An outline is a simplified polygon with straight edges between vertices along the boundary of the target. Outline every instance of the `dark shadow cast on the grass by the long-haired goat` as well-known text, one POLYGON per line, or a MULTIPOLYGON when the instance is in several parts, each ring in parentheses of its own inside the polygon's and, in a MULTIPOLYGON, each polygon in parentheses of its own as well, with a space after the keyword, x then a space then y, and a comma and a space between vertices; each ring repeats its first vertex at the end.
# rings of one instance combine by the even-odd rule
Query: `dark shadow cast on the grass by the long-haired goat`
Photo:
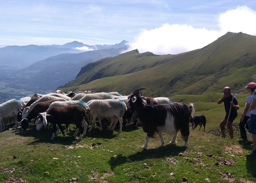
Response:
POLYGON ((127 163, 128 161, 142 161, 151 158, 178 156, 178 154, 184 152, 186 148, 187 147, 168 144, 154 149, 143 149, 142 151, 127 157, 122 154, 117 155, 117 157, 111 157, 109 164, 113 170, 116 166, 127 163))

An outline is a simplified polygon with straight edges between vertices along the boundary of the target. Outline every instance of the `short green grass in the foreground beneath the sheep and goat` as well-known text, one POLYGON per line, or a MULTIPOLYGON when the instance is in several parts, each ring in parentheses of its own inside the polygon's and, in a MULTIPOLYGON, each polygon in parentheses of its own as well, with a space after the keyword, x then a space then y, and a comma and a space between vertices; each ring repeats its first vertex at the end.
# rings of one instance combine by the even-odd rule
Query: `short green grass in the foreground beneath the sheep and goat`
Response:
MULTIPOLYGON (((207 121, 206 127, 209 127, 214 123, 213 116, 205 115, 212 118, 207 121)), ((149 140, 148 149, 142 150, 146 134, 141 127, 125 126, 120 134, 117 129, 107 131, 106 124, 103 127, 103 132, 99 132, 99 127, 87 132, 81 142, 73 139, 74 126, 65 139, 59 135, 53 141, 50 140, 52 130, 37 132, 35 125, 30 125, 27 131, 18 128, 1 133, 0 182, 11 175, 38 183, 68 182, 71 178, 78 178, 77 182, 181 182, 183 177, 189 182, 204 182, 205 178, 211 182, 228 182, 223 177, 226 172, 234 175, 236 182, 256 181, 255 157, 247 156, 251 151, 249 144, 241 145, 237 133, 235 139, 230 140, 203 133, 202 129, 191 131, 188 148, 183 147, 180 135, 176 145, 168 145, 171 137, 163 135, 165 145, 159 147, 157 136, 149 140), (84 147, 75 148, 77 145, 84 147), (227 150, 226 146, 236 147, 241 153, 227 150), (183 155, 179 156, 180 153, 183 155), (207 157, 209 154, 214 157, 207 157), (14 159, 14 155, 18 158, 14 159), (235 160, 235 164, 216 165, 221 157, 235 160), (6 168, 14 168, 14 172, 3 173, 6 168)))

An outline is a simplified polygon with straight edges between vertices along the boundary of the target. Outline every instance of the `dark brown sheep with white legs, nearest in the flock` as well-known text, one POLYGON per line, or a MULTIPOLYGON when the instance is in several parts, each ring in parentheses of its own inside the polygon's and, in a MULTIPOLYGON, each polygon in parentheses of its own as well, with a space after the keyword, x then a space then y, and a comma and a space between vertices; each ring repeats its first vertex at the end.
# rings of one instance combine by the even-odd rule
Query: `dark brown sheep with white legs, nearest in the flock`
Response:
MULTIPOLYGON (((63 134, 63 138, 65 138, 65 133, 61 127, 61 124, 68 125, 71 123, 75 123, 76 127, 80 130, 79 141, 81 141, 82 137, 86 133, 86 128, 88 126, 86 121, 84 120, 84 117, 86 115, 86 110, 83 107, 79 105, 70 105, 64 107, 52 107, 50 109, 47 109, 47 111, 39 113, 37 119, 40 118, 45 126, 49 122, 53 125, 53 136, 51 140, 55 138, 56 125, 59 126, 63 134), (84 128, 82 126, 83 123, 85 124, 84 128)), ((76 136, 76 134, 74 136, 76 136)))

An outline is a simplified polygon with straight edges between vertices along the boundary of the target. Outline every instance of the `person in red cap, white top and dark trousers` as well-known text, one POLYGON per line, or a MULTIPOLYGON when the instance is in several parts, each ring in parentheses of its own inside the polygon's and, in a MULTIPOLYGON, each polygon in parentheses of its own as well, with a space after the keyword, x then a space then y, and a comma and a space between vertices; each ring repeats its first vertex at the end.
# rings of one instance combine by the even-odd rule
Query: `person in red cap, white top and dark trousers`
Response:
POLYGON ((250 104, 252 103, 252 93, 254 92, 255 88, 256 88, 256 83, 248 83, 247 86, 245 87, 247 92, 250 93, 250 95, 246 98, 246 103, 245 103, 245 109, 242 113, 242 116, 240 118, 240 123, 239 123, 239 128, 240 128, 240 134, 241 134, 241 138, 244 140, 245 143, 248 142, 247 140, 247 136, 246 136, 246 131, 245 128, 248 129, 248 125, 247 125, 247 121, 250 118, 251 113, 249 112, 249 107, 250 104))

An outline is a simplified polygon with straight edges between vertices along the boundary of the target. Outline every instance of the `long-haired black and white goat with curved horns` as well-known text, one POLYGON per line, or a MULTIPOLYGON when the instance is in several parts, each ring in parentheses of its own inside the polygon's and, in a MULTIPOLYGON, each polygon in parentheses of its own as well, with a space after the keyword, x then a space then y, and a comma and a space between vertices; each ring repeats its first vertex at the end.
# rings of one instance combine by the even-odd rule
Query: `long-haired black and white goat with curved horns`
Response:
MULTIPOLYGON (((137 89, 138 91, 139 89, 137 89)), ((166 135, 173 135, 169 142, 176 142, 178 131, 181 131, 181 137, 185 141, 184 146, 188 146, 189 122, 190 116, 194 112, 194 105, 188 107, 184 103, 169 103, 147 105, 141 98, 142 92, 136 93, 136 90, 129 97, 129 105, 133 112, 133 118, 139 119, 142 123, 143 131, 147 133, 145 144, 142 148, 148 147, 149 138, 153 138, 157 132, 160 137, 160 146, 164 145, 162 132, 166 135)))

